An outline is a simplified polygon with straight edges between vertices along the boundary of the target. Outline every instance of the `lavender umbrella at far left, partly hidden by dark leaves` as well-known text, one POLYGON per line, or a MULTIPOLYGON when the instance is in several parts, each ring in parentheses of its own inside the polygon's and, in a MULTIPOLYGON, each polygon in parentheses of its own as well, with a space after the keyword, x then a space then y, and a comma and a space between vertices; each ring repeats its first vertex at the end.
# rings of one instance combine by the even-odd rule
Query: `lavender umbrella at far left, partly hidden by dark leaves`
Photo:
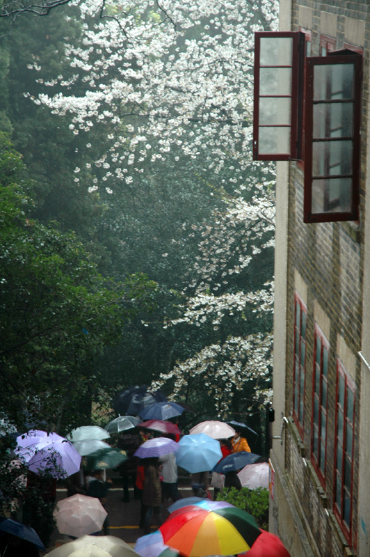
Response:
POLYGON ((16 439, 15 453, 23 457, 29 470, 48 470, 54 478, 67 478, 78 472, 81 455, 70 441, 54 432, 31 430, 16 439))

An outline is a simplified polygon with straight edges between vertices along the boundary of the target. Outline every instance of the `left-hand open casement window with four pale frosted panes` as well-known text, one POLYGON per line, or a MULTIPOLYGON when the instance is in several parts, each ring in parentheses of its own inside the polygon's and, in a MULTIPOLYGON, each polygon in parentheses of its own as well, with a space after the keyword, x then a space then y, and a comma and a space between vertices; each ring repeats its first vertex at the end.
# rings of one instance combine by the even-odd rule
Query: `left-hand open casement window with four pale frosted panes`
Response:
POLYGON ((255 33, 253 157, 300 157, 305 35, 300 31, 255 33))

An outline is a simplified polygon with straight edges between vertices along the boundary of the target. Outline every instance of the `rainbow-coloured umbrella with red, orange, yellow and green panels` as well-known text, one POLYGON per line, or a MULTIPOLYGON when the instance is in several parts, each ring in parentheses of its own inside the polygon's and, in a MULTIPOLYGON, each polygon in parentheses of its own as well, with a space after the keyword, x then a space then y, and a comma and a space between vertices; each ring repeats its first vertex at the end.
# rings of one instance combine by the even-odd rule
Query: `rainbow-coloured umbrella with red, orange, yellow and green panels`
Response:
POLYGON ((187 557, 243 553, 261 534, 254 517, 245 510, 207 510, 198 505, 175 510, 159 530, 165 544, 187 557))

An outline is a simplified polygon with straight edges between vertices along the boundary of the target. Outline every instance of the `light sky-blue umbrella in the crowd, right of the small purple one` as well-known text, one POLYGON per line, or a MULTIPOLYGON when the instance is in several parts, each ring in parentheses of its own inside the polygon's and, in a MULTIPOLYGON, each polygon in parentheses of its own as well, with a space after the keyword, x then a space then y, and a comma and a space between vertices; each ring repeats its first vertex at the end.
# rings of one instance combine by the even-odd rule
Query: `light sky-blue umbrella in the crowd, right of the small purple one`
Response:
POLYGON ((178 445, 177 465, 190 473, 211 470, 223 457, 220 442, 205 433, 184 435, 178 445))

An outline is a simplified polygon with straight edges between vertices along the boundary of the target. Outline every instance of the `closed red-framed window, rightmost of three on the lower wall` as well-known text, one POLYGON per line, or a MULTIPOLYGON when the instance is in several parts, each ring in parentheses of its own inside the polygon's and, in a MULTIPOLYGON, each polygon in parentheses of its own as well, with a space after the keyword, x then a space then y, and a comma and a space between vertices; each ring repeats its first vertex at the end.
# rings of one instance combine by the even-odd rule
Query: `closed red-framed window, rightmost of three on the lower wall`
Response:
POLYGON ((355 385, 337 361, 335 400, 335 481, 333 510, 351 544, 353 512, 353 457, 355 444, 355 385))

